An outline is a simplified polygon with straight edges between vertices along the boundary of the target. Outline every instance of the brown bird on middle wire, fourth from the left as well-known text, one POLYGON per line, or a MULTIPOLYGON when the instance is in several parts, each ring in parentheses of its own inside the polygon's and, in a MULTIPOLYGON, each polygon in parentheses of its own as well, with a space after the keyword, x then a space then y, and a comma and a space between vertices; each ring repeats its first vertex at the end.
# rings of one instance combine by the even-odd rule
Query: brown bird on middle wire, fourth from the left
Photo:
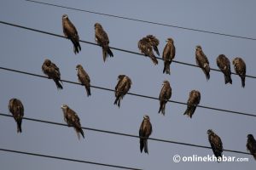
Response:
POLYGON ((172 96, 172 88, 170 86, 170 82, 164 81, 163 87, 160 91, 159 100, 160 100, 160 108, 158 113, 162 113, 163 116, 166 114, 166 103, 172 96))

